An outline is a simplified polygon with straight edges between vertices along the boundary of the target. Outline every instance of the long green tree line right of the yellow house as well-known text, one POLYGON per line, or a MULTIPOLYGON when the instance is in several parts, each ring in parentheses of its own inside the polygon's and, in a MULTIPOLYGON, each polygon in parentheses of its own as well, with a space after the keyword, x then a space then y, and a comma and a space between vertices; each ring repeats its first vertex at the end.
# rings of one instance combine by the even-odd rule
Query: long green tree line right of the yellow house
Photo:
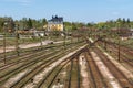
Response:
POLYGON ((64 22, 64 25, 71 30, 78 30, 79 28, 96 29, 96 30, 111 30, 111 29, 133 29, 133 21, 125 18, 119 18, 116 20, 109 20, 105 22, 89 22, 89 23, 79 23, 79 22, 64 22))

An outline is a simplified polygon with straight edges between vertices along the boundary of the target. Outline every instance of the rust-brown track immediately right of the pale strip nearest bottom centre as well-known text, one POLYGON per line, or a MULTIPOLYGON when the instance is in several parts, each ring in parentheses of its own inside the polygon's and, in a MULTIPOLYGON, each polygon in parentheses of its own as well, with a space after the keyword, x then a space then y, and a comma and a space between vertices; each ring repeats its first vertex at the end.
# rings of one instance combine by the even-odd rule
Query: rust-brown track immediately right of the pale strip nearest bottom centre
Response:
POLYGON ((102 74, 100 73, 95 62, 93 59, 93 57, 90 54, 90 51, 86 50, 86 52, 84 52, 84 57, 86 61, 86 65, 88 65, 88 69, 90 73, 90 79, 91 79, 91 85, 93 88, 110 88, 109 84, 106 82, 106 80, 103 78, 102 74))

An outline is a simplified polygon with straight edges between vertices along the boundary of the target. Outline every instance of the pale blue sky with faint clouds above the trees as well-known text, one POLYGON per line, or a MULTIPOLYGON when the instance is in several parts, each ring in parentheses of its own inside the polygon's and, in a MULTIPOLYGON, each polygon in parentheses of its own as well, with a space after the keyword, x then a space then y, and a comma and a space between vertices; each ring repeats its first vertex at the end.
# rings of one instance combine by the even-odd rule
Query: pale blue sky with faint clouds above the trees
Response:
POLYGON ((0 0, 0 16, 50 20, 63 16, 70 22, 105 22, 125 18, 133 20, 133 0, 0 0))

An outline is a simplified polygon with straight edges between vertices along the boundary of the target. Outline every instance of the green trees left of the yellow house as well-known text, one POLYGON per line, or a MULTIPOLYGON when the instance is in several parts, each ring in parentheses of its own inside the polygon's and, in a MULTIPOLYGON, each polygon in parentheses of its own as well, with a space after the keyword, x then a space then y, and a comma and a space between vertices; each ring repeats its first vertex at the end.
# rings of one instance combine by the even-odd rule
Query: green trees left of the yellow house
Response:
POLYGON ((28 31, 30 29, 43 30, 43 26, 47 25, 47 19, 31 19, 22 18, 20 20, 13 20, 11 16, 0 16, 0 32, 3 32, 3 28, 7 26, 7 31, 13 32, 17 29, 28 31), (7 23, 7 25, 6 25, 7 23))

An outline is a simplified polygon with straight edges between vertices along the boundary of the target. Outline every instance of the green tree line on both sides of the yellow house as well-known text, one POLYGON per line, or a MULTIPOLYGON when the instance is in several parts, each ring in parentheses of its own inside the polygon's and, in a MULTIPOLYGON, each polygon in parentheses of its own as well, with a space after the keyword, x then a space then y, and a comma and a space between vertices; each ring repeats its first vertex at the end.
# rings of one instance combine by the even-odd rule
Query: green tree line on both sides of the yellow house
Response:
MULTIPOLYGON (((30 29, 35 29, 39 31, 44 30, 44 25, 48 24, 48 21, 45 18, 43 19, 31 19, 31 18, 22 18, 20 20, 13 20, 11 16, 0 16, 0 32, 3 32, 4 23, 7 22, 7 29, 10 32, 13 32, 16 30, 16 25, 19 25, 19 30, 28 31, 30 29)), ((113 28, 126 28, 126 29, 133 29, 133 21, 125 18, 119 18, 116 20, 110 20, 106 22, 89 22, 89 23, 82 23, 82 22, 63 22, 64 29, 66 31, 74 31, 80 28, 94 28, 99 30, 104 29, 113 29, 113 28)), ((47 28, 45 28, 47 29, 47 28)))

